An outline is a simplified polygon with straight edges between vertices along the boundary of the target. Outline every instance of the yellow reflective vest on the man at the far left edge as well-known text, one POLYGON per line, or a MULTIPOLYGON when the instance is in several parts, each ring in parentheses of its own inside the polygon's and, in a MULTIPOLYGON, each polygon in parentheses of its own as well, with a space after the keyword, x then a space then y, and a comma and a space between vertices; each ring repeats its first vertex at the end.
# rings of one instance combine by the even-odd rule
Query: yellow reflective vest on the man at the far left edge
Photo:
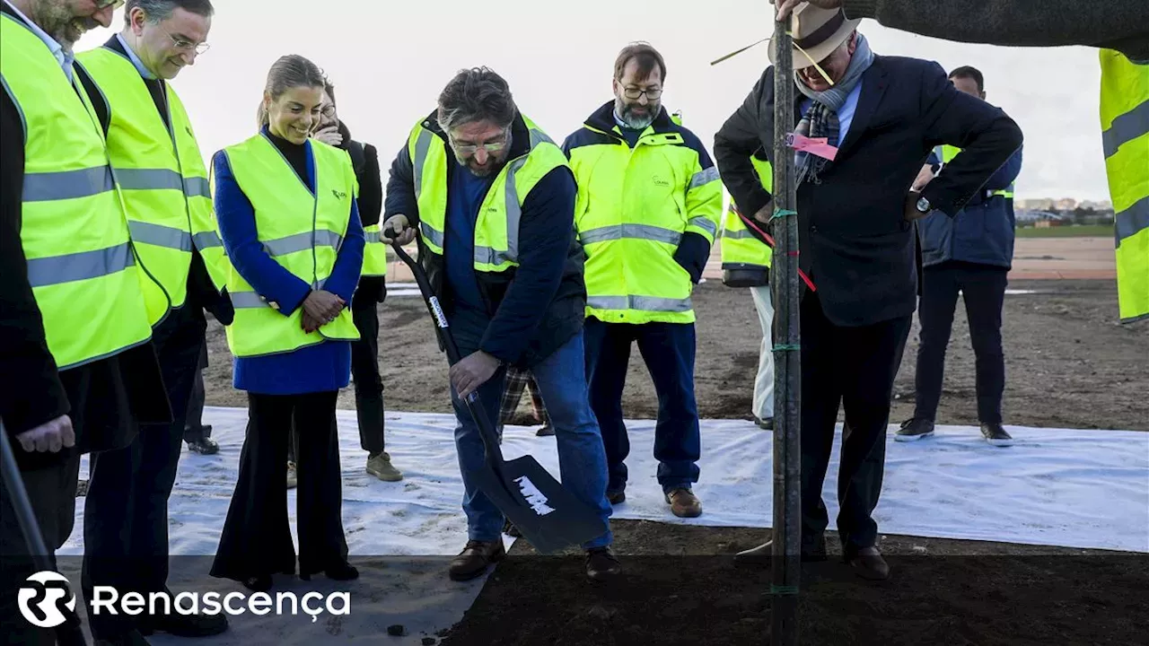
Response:
MULTIPOLYGON (((18 18, 0 15, 0 83, 24 125, 21 246, 60 370, 152 334, 102 130, 78 79, 18 18)), ((14 376, 18 378, 18 376, 14 376)))

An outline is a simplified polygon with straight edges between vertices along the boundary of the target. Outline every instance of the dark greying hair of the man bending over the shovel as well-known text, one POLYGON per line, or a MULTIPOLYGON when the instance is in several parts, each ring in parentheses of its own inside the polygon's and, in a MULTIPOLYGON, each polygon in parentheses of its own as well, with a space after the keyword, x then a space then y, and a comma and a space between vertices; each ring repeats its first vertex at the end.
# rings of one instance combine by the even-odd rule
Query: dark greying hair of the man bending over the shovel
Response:
POLYGON ((515 121, 515 99, 503 77, 488 68, 461 70, 439 94, 439 128, 445 132, 465 123, 491 121, 507 128, 515 121))

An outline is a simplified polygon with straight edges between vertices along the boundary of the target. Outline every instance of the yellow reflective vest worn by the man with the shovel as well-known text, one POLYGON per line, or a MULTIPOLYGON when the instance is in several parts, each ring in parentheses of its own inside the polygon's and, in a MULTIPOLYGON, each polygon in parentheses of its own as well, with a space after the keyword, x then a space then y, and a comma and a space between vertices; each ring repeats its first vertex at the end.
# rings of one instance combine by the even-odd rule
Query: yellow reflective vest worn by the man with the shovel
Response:
MULTIPOLYGON (((506 271, 518 266, 518 229, 523 202, 548 172, 566 166, 562 149, 534 123, 523 117, 530 132, 530 152, 510 160, 495 177, 479 207, 475 223, 475 270, 506 271)), ((446 143, 430 129, 416 124, 408 138, 419 207, 419 233, 429 251, 442 255, 447 221, 447 164, 453 163, 446 143)), ((465 169, 458 168, 457 172, 465 169)))

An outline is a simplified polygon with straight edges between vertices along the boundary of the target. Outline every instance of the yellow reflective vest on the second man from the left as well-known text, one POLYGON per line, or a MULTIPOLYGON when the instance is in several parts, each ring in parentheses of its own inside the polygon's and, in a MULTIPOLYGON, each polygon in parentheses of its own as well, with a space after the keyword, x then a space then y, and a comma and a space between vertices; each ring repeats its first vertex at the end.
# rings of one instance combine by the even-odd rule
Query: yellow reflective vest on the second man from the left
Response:
MULTIPOLYGON (((155 325, 186 300, 195 236, 215 232, 207 169, 187 113, 170 85, 164 83, 169 130, 128 57, 99 47, 79 54, 78 60, 110 108, 108 155, 123 192, 137 253, 160 283, 146 283, 144 290, 148 317, 155 325)), ((200 253, 216 289, 223 290, 223 248, 213 245, 200 253)))

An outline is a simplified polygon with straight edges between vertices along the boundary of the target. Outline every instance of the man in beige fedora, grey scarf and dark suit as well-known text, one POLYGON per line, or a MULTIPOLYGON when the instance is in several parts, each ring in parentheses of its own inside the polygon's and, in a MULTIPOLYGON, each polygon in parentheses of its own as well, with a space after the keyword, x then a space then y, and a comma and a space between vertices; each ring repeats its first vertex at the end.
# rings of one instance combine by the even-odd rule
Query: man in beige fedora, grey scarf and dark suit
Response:
MULTIPOLYGON (((793 14, 796 134, 826 146, 795 151, 803 287, 802 556, 824 559, 822 500, 839 408, 845 407, 838 531, 845 560, 866 578, 889 576, 872 514, 881 492, 886 425, 899 360, 917 303, 913 221, 959 212, 1021 145, 1000 109, 954 89, 932 62, 874 54, 841 9, 793 14), (961 146, 921 192, 931 149, 961 146), (969 155, 969 156, 966 156, 969 155)), ((774 69, 758 79, 715 137, 723 182, 742 213, 773 215, 750 155, 773 157, 774 69)))

